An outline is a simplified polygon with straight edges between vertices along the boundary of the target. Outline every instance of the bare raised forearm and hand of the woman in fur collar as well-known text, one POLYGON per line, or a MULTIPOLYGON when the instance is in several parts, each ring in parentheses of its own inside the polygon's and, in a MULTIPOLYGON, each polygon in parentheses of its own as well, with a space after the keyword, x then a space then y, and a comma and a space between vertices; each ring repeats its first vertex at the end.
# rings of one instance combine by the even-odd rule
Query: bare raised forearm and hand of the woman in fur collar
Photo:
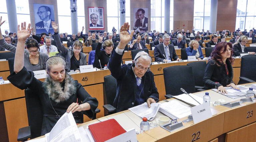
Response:
POLYGON ((28 24, 28 28, 26 29, 26 22, 21 23, 21 26, 18 25, 18 31, 17 31, 17 37, 18 37, 18 43, 17 43, 17 49, 15 53, 15 59, 14 59, 14 72, 18 73, 21 71, 21 69, 24 67, 24 50, 25 50, 25 42, 26 39, 31 34, 30 29, 30 23, 28 24))

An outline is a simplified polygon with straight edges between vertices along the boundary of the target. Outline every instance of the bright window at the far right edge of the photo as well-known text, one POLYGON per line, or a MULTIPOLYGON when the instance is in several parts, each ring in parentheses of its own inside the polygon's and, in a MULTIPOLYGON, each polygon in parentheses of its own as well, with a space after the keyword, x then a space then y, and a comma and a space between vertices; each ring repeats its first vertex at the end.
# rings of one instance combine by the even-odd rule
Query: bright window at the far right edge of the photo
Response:
POLYGON ((256 24, 256 1, 238 0, 236 12, 236 29, 249 32, 256 24))

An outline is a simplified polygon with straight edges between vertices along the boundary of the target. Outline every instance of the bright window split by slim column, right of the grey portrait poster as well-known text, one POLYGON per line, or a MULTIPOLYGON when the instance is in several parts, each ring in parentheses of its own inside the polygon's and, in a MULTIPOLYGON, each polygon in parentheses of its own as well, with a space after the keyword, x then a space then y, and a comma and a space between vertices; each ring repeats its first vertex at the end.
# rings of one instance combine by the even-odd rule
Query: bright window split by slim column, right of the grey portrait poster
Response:
MULTIPOLYGON (((151 0, 151 31, 165 31, 165 0, 151 0), (161 9, 161 10, 160 10, 161 9)), ((170 0, 170 32, 173 30, 173 0, 170 0)))

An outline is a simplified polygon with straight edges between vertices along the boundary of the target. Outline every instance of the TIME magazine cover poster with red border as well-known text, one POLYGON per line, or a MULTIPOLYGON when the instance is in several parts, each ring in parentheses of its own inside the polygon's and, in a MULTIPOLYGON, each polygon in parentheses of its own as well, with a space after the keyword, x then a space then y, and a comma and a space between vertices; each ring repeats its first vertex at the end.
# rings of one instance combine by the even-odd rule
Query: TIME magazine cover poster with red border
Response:
POLYGON ((103 11, 103 7, 88 7, 88 22, 90 31, 104 30, 103 11))

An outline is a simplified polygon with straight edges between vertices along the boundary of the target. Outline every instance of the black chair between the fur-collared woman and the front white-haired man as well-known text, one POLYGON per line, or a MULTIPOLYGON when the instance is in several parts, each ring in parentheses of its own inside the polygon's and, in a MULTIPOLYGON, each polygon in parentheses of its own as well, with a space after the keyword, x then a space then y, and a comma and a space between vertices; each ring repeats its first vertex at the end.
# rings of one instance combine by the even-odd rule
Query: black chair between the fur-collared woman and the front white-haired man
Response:
POLYGON ((113 107, 113 102, 116 96, 116 79, 112 75, 104 76, 104 97, 106 98, 106 105, 103 108, 108 114, 116 112, 116 108, 113 107))

